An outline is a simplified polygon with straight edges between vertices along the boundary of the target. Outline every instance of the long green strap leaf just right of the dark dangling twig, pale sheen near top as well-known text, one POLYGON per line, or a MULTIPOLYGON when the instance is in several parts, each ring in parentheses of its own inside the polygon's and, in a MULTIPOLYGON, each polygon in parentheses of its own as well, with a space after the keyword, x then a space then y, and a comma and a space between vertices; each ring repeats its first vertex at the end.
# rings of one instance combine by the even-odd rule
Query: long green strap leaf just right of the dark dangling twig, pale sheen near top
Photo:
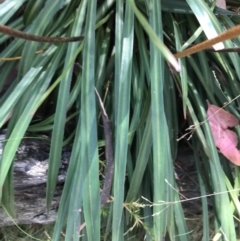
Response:
MULTIPOLYGON (((126 4, 124 18, 123 45, 121 56, 121 70, 116 96, 115 108, 118 110, 116 116, 116 142, 115 142, 115 174, 114 174, 114 203, 112 239, 122 240, 121 221, 123 215, 124 181, 127 161, 127 143, 130 112, 130 86, 132 78, 132 56, 133 56, 133 23, 134 14, 130 4, 126 4)), ((116 63, 117 64, 117 63, 116 63)))

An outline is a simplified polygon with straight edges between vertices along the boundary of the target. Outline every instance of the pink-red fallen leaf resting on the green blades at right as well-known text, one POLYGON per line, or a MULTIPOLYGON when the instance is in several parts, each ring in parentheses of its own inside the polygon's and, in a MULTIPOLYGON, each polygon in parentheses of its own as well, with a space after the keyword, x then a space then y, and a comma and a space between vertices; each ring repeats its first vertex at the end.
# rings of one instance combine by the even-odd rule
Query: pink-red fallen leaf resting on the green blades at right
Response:
POLYGON ((216 147, 229 161, 240 166, 238 137, 234 131, 228 129, 238 125, 238 119, 229 112, 207 103, 207 117, 216 147))

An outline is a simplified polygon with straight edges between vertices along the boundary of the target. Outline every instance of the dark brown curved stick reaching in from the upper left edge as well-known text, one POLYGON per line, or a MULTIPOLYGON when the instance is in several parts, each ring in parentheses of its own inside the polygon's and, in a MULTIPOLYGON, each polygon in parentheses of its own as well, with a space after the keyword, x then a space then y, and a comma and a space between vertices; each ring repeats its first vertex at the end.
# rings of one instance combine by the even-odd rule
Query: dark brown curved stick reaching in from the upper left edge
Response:
POLYGON ((0 33, 10 35, 14 38, 21 38, 21 39, 41 42, 41 43, 67 43, 67 42, 81 41, 84 39, 83 36, 66 37, 66 38, 37 36, 37 35, 33 35, 33 34, 25 33, 16 29, 9 28, 6 25, 0 25, 0 33))

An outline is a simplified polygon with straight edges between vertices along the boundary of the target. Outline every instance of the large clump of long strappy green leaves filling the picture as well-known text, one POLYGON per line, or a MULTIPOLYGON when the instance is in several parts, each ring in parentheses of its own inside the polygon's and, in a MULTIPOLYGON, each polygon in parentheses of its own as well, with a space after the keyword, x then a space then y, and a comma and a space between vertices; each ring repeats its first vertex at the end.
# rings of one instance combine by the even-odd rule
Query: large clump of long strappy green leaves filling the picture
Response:
MULTIPOLYGON (((214 144, 206 100, 229 103, 225 109, 240 117, 239 54, 209 49, 174 57, 237 25, 237 4, 228 1, 231 9, 223 10, 203 0, 3 1, 1 25, 38 36, 84 36, 40 43, 0 34, 0 124, 7 128, 0 198, 9 214, 15 213, 16 150, 26 133, 44 132, 51 140, 47 208, 62 147, 72 147, 52 240, 60 240, 62 230, 65 240, 195 240, 174 175, 183 137, 195 157, 202 240, 237 240, 239 168, 214 144), (103 110, 108 131, 98 118, 103 110), (111 175, 106 180, 101 174, 111 165, 102 162, 110 132, 113 185, 101 209, 102 183, 111 182, 111 175), (207 194, 213 194, 212 206, 207 194)), ((240 39, 224 45, 239 47, 240 39)), ((239 127, 234 130, 239 135, 239 127)))

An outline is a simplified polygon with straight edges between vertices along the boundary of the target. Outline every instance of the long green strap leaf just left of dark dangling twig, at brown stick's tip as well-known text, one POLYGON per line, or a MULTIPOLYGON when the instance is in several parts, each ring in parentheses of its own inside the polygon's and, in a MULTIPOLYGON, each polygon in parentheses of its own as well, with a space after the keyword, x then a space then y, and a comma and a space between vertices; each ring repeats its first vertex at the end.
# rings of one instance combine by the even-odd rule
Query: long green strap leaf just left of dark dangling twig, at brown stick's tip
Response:
POLYGON ((85 181, 83 209, 88 240, 100 240, 97 117, 95 103, 95 21, 97 1, 88 2, 81 85, 81 161, 85 181))

